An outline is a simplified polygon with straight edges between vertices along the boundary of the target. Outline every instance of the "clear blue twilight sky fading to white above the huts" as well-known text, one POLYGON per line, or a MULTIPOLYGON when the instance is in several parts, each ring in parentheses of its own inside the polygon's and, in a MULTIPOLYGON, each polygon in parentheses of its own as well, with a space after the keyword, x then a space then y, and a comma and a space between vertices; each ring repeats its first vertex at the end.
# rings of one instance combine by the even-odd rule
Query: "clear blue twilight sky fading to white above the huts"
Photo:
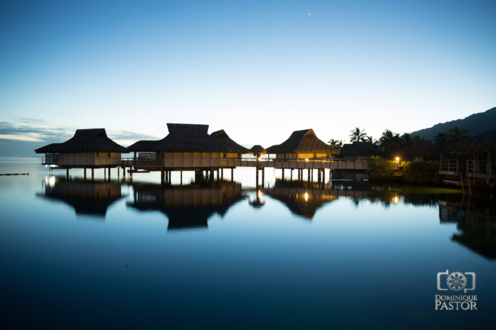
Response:
POLYGON ((0 157, 167 123, 349 140, 496 106, 496 1, 0 0, 0 157))

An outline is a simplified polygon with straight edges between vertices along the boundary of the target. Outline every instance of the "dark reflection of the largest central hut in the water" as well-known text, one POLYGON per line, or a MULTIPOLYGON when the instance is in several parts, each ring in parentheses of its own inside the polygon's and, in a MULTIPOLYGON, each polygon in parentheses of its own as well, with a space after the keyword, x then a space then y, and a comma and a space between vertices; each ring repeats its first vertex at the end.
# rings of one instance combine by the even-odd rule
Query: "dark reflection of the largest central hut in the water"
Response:
POLYGON ((224 217, 234 204, 246 199, 241 183, 226 181, 190 185, 129 183, 134 200, 127 206, 139 211, 160 211, 169 219, 168 230, 207 228, 217 213, 224 217))

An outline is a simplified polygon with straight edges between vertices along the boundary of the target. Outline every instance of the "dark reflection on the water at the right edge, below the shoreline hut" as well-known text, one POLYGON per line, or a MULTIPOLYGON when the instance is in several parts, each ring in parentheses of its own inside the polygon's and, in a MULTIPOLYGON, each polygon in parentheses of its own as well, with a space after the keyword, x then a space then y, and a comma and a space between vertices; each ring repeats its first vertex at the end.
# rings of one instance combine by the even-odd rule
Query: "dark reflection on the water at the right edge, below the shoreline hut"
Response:
POLYGON ((496 259, 496 206, 485 200, 462 198, 439 204, 440 223, 456 223, 459 232, 452 242, 466 246, 485 258, 496 259))

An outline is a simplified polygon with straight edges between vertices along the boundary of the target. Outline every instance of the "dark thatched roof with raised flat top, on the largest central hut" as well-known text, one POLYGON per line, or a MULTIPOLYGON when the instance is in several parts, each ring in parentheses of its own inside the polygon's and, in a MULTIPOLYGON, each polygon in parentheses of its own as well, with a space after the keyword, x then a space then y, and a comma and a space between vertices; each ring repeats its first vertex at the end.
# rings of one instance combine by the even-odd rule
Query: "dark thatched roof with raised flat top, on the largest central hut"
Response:
MULTIPOLYGON (((141 140, 129 145, 129 152, 227 152, 229 147, 208 135, 208 125, 167 124, 169 134, 162 140, 141 140)), ((234 142, 234 141, 233 141, 234 142)))

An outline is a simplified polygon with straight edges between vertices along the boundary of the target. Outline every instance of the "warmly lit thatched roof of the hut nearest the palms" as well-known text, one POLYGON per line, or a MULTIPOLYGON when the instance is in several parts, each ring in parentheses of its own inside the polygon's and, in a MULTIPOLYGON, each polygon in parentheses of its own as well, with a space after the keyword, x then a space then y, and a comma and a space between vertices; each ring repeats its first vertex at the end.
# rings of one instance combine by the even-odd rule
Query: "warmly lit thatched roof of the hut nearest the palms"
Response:
POLYGON ((294 131, 288 140, 280 145, 272 145, 267 148, 267 154, 284 154, 284 153, 320 153, 320 154, 339 154, 339 150, 331 147, 322 140, 319 140, 313 129, 304 129, 294 131))

